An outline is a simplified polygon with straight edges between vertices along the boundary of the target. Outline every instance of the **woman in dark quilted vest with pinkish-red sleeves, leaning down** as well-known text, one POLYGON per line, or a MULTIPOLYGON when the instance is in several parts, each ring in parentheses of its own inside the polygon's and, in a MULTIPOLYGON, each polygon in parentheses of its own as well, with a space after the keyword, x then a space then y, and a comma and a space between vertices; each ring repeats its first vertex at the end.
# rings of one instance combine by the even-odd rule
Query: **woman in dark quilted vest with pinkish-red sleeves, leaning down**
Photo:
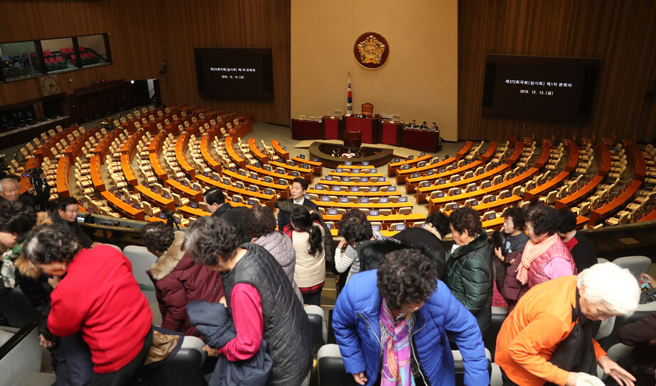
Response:
POLYGON ((301 385, 312 368, 310 321, 271 253, 254 243, 240 246, 237 230, 213 216, 191 224, 184 249, 198 263, 221 272, 237 336, 219 353, 231 361, 246 360, 266 339, 273 361, 267 385, 301 385))

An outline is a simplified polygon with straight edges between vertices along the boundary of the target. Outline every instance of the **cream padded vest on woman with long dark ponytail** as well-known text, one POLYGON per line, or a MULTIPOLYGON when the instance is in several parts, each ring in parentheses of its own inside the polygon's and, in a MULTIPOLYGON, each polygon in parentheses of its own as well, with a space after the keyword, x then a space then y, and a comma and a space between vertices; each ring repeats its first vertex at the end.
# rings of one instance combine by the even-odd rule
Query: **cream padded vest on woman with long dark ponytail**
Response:
MULTIPOLYGON (((323 246, 323 228, 321 230, 321 245, 323 246)), ((294 267, 294 281, 299 288, 314 287, 326 280, 326 250, 315 255, 310 254, 310 233, 294 231, 291 241, 296 250, 296 267, 294 267)))

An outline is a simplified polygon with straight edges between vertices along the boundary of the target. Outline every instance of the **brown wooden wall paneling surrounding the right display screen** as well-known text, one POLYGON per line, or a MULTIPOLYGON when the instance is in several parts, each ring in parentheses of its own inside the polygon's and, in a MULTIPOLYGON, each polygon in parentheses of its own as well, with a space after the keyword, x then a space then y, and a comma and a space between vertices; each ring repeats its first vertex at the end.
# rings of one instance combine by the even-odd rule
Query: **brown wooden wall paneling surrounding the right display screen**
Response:
POLYGON ((549 138, 609 136, 655 140, 655 98, 642 95, 656 80, 656 2, 507 1, 458 4, 458 136, 505 140, 510 133, 549 138), (602 61, 588 123, 482 116, 488 53, 598 57, 602 61), (526 125, 526 129, 522 129, 526 125))

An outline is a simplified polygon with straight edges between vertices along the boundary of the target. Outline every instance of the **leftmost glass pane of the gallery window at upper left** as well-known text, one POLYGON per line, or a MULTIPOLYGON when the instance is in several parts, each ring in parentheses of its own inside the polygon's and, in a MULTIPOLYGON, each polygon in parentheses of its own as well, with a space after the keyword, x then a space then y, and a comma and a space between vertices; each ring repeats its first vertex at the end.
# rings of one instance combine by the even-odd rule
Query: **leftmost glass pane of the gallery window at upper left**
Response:
POLYGON ((0 44, 0 60, 6 80, 43 74, 33 41, 0 44))

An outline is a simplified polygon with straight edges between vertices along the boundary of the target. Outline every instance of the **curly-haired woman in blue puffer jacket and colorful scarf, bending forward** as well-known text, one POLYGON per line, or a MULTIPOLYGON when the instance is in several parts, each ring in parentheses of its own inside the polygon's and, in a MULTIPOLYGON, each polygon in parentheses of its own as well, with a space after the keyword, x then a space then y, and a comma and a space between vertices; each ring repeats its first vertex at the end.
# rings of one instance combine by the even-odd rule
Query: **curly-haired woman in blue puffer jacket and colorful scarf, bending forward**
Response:
POLYGON ((360 385, 455 385, 453 333, 466 385, 488 385, 488 360, 472 314, 416 249, 389 253, 378 270, 349 280, 333 314, 347 373, 360 385))

